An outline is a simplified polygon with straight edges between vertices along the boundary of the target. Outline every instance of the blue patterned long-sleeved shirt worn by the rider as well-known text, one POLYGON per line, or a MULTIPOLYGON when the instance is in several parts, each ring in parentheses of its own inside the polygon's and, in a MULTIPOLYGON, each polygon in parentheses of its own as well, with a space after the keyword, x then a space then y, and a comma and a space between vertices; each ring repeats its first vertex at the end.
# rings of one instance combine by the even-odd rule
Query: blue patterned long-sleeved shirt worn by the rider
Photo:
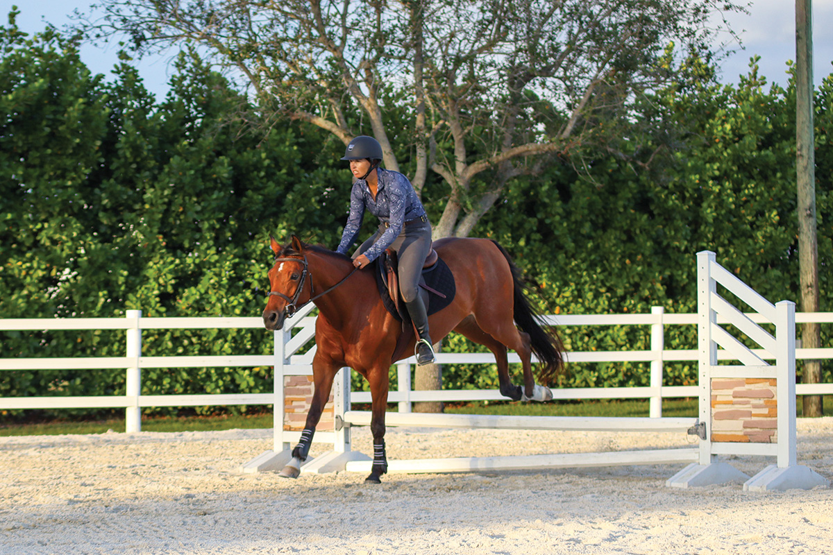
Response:
POLYGON ((367 181, 360 179, 353 183, 350 191, 350 217, 344 226, 342 242, 338 244, 336 252, 347 254, 347 250, 356 240, 356 235, 362 227, 365 209, 379 221, 388 222, 390 227, 379 236, 373 246, 364 252, 367 260, 376 260, 402 233, 402 226, 420 216, 425 216, 425 208, 416 196, 411 181, 398 171, 377 168, 376 175, 379 183, 376 199, 367 186, 367 181))

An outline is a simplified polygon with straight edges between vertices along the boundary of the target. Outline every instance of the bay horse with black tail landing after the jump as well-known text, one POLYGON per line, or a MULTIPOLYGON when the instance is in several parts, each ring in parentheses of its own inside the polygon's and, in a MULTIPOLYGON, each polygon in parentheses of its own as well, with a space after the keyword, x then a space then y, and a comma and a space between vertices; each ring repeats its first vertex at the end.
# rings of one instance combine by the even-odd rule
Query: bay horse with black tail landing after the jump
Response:
MULTIPOLYGON (((267 330, 282 329, 287 317, 311 300, 318 308, 312 404, 301 440, 281 475, 299 475, 333 379, 339 369, 348 366, 370 383, 373 464, 366 481, 380 483, 382 474, 387 473, 388 369, 413 352, 416 336, 405 349, 402 344, 397 349, 402 325, 382 303, 373 275, 375 264, 355 270, 346 255, 307 245, 297 235, 285 246, 271 235, 269 240, 275 260, 268 273, 270 292, 263 311, 267 330), (401 353, 397 359, 395 352, 401 353)), ((494 240, 474 238, 436 240, 433 247, 454 275, 456 295, 450 305, 429 317, 431 337, 440 339, 454 330, 491 350, 500 391, 507 398, 552 399, 546 384, 564 369, 563 345, 555 329, 545 330, 536 321, 536 311, 526 296, 526 281, 506 250, 494 240), (523 389, 511 382, 506 349, 515 350, 521 358, 523 389), (536 384, 532 375, 533 353, 539 360, 538 379, 543 385, 536 384)))

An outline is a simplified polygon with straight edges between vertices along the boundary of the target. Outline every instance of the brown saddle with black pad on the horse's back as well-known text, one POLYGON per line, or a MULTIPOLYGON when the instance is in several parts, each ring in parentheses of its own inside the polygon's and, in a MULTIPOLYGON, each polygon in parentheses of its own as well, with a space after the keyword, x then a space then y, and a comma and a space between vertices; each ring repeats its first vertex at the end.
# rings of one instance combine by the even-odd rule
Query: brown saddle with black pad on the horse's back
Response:
MULTIPOLYGON (((376 275, 377 288, 382 295, 382 304, 394 318, 402 322, 402 334, 397 340, 394 359, 401 354, 408 340, 414 334, 411 316, 399 293, 399 267, 397 253, 388 249, 377 258, 376 275)), ((430 316, 451 305, 456 295, 454 275, 448 265, 437 255, 436 250, 426 257, 422 265, 422 275, 419 281, 420 295, 425 304, 426 312, 430 316)))

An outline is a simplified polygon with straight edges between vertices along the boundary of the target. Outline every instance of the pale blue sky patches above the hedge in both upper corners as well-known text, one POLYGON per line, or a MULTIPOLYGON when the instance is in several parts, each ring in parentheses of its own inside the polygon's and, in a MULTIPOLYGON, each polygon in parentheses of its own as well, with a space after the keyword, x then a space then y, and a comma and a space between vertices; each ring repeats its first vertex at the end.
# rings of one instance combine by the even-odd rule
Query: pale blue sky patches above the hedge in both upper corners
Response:
MULTIPOLYGON (((17 25, 24 32, 42 31, 45 23, 62 27, 71 22, 74 9, 88 11, 94 0, 0 0, 0 17, 7 24, 7 13, 12 5, 21 8, 17 25)), ((739 0, 740 1, 740 0, 739 0)), ((813 0, 813 80, 818 85, 833 72, 833 38, 828 31, 833 24, 833 0, 813 0)), ((721 81, 738 82, 738 76, 746 74, 749 58, 760 55, 760 73, 769 82, 786 84, 786 61, 796 59, 796 12, 794 0, 754 0, 751 14, 736 14, 730 18, 732 27, 741 34, 743 49, 738 49, 721 66, 721 81)), ((135 62, 145 87, 164 97, 171 76, 170 62, 173 52, 167 55, 135 62)), ((117 47, 82 47, 82 61, 93 73, 109 76, 117 63, 117 47)))

